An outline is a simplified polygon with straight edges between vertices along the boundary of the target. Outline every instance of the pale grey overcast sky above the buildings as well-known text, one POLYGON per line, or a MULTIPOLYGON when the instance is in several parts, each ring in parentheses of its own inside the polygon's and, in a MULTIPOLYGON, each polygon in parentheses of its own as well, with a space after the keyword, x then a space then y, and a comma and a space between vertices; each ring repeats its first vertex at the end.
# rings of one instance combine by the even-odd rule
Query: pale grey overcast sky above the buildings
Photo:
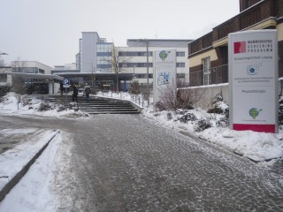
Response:
POLYGON ((0 52, 50 66, 75 63, 81 32, 126 39, 196 39, 240 11, 239 0, 0 0, 0 52))

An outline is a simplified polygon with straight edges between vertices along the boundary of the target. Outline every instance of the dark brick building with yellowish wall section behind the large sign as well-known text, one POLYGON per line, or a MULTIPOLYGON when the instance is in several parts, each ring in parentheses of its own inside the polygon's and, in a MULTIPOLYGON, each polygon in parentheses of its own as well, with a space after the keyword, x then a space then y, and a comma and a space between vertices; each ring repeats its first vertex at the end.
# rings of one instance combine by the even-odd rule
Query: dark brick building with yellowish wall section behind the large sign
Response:
POLYGON ((279 77, 283 77, 283 0, 239 0, 240 13, 188 43, 190 86, 228 82, 228 34, 277 29, 279 77))

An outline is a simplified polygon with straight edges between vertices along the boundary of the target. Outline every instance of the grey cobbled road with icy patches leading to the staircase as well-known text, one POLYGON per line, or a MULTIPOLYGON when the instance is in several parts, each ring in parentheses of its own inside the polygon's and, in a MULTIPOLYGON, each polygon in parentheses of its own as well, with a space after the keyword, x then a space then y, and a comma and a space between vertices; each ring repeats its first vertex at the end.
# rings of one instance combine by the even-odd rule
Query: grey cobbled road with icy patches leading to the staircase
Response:
POLYGON ((57 211, 283 211, 282 172, 142 115, 2 117, 1 128, 70 135, 57 211))

